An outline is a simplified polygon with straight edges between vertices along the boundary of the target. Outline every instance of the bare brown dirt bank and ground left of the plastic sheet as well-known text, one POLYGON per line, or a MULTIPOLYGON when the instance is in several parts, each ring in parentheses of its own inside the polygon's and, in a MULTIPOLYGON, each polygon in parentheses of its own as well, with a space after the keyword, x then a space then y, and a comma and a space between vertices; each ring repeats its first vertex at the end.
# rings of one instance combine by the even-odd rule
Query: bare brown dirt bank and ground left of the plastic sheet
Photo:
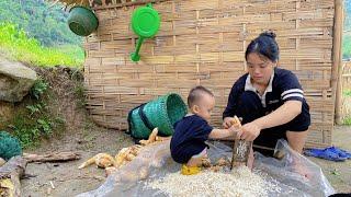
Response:
POLYGON ((24 152, 42 154, 75 151, 81 154, 81 159, 66 163, 29 163, 27 176, 21 181, 22 196, 67 197, 95 189, 105 179, 104 171, 93 166, 78 170, 78 166, 100 152, 115 155, 133 141, 124 132, 97 127, 89 119, 87 111, 80 106, 84 103, 82 95, 77 91, 83 80, 80 71, 65 67, 32 68, 49 82, 52 92, 48 106, 54 115, 58 114, 65 119, 66 129, 55 134, 50 140, 42 141, 41 147, 24 152))

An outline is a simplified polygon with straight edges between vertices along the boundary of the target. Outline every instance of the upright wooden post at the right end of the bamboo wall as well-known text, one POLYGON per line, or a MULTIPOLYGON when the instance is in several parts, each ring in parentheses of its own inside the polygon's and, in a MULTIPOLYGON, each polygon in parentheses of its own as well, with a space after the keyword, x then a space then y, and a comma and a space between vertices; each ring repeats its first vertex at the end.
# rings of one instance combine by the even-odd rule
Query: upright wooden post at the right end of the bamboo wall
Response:
POLYGON ((335 0, 335 23, 333 23, 333 39, 332 39, 332 73, 331 89, 335 97, 335 121, 341 123, 341 57, 342 57, 342 22, 343 22, 343 1, 335 0))

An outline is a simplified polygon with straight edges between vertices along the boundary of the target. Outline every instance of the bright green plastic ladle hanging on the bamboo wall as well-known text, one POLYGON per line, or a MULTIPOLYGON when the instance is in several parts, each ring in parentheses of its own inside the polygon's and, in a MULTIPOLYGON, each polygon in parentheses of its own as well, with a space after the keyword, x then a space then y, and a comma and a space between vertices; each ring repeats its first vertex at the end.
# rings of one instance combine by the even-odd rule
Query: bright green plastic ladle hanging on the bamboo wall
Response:
POLYGON ((154 37, 160 28, 160 16, 150 3, 134 11, 132 15, 132 28, 139 38, 135 51, 131 54, 131 59, 139 61, 139 50, 144 39, 154 37))

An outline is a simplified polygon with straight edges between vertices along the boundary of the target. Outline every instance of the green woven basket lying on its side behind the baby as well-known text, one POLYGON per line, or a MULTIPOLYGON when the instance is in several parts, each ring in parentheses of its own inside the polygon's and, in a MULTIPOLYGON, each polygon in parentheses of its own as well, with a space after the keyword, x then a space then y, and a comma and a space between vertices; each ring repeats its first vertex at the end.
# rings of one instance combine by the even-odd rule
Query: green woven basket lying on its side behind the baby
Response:
POLYGON ((147 139, 155 127, 158 127, 160 136, 173 135, 173 125, 185 116, 186 105, 181 96, 174 93, 148 102, 144 105, 143 113, 149 126, 140 117, 139 111, 140 107, 137 107, 131 112, 129 132, 134 138, 147 139))

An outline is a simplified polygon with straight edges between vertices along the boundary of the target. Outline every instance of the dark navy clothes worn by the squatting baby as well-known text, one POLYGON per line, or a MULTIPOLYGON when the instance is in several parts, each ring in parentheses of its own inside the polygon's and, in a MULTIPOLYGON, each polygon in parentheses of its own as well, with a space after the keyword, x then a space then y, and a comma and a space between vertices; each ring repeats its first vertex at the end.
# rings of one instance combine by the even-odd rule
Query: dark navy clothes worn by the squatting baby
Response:
POLYGON ((170 148, 176 162, 188 163, 191 157, 207 148, 205 141, 213 127, 204 118, 197 115, 185 116, 174 127, 170 148))

